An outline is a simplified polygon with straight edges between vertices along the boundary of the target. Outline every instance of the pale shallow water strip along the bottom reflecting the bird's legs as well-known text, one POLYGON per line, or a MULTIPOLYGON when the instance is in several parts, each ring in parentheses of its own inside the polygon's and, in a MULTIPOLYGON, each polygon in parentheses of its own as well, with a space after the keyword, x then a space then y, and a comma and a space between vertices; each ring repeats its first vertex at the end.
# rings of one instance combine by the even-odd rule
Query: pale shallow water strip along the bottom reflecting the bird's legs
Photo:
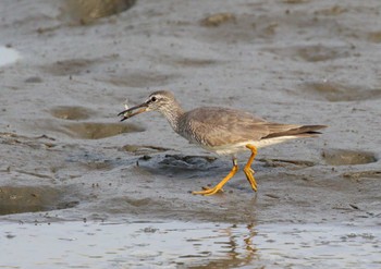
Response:
POLYGON ((1 268, 379 268, 381 230, 345 224, 2 223, 1 268))

